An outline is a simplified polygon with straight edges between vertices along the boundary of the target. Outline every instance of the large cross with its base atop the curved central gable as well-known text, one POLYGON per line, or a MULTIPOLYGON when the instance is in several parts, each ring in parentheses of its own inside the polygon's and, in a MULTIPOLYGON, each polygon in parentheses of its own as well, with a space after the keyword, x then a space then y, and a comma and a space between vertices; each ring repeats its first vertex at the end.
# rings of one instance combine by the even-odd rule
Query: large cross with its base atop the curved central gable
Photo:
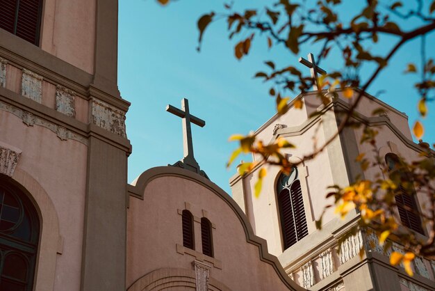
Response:
POLYGON ((183 152, 184 157, 182 161, 175 163, 173 166, 179 166, 181 168, 186 168, 195 173, 199 173, 207 178, 206 173, 199 168, 199 164, 193 156, 193 144, 192 144, 192 129, 190 128, 190 123, 198 125, 199 127, 204 127, 206 122, 196 116, 192 116, 189 111, 189 100, 183 98, 181 100, 181 110, 173 107, 172 105, 166 106, 166 111, 170 112, 180 118, 183 118, 183 152))

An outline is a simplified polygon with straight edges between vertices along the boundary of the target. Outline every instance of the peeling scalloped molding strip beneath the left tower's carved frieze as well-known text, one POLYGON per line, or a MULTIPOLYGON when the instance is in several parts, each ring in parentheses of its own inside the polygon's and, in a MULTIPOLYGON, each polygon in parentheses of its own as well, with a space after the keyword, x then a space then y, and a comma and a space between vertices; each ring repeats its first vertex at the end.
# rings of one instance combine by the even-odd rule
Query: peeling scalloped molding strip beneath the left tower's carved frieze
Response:
POLYGON ((57 134, 59 139, 66 141, 68 139, 73 139, 74 141, 79 141, 79 143, 83 143, 84 145, 88 145, 88 140, 85 139, 85 137, 75 134, 74 132, 66 129, 65 127, 62 127, 60 125, 56 125, 54 123, 51 123, 47 120, 44 120, 42 118, 39 118, 37 116, 34 116, 32 113, 28 111, 23 111, 22 109, 18 109, 16 107, 13 107, 9 104, 0 102, 0 109, 13 113, 18 118, 21 118, 23 120, 23 123, 25 123, 27 126, 33 126, 33 125, 40 125, 42 127, 45 127, 47 129, 50 129, 52 132, 57 134))

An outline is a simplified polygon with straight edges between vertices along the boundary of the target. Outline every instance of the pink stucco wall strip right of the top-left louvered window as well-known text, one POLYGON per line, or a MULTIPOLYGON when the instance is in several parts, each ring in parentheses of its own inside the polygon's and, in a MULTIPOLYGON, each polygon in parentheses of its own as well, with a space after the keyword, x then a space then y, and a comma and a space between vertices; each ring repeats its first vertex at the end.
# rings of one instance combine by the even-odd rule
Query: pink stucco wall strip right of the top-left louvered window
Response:
POLYGON ((95 0, 45 0, 42 17, 40 47, 92 74, 95 0))

